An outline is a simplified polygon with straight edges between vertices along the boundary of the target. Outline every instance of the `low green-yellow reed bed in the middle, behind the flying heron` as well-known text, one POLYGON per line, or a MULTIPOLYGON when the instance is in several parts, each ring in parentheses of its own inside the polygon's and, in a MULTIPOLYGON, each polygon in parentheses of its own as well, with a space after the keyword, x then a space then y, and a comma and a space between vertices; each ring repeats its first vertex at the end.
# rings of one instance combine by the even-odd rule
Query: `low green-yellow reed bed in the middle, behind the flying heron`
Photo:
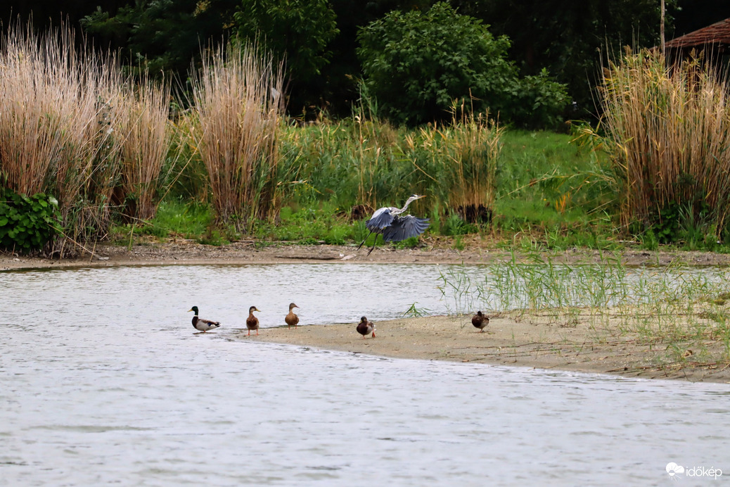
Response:
POLYGON ((283 197, 295 204, 361 206, 364 216, 423 193, 429 198, 415 207, 423 215, 475 218, 475 209, 493 207, 501 134, 493 120, 478 116, 415 131, 361 115, 291 126, 280 145, 283 197))

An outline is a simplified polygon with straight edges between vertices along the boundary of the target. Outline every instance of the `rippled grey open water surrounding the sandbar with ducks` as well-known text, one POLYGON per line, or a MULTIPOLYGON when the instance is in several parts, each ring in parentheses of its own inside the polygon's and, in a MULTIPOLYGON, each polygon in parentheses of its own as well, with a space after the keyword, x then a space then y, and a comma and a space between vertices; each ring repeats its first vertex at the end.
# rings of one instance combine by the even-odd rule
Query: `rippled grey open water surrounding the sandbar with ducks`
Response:
POLYGON ((655 485, 671 482, 670 461, 728 478, 727 385, 234 339, 252 304, 263 326, 283 323, 291 301, 305 324, 395 318, 414 302, 446 312, 438 275, 356 264, 0 273, 0 485, 655 485), (193 334, 193 304, 223 326, 193 334))

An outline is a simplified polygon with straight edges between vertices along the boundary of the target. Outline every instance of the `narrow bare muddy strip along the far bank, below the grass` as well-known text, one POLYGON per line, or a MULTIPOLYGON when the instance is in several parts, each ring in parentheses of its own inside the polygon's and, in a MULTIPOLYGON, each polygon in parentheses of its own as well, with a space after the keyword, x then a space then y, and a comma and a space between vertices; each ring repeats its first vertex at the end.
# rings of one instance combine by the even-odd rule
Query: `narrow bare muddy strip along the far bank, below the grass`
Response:
MULTIPOLYGON (((479 242, 465 250, 448 248, 447 242, 426 239, 422 248, 396 250, 392 247, 377 248, 369 256, 366 250, 354 245, 288 245, 260 242, 236 242, 220 247, 201 245, 196 242, 174 241, 144 243, 131 246, 91 245, 88 251, 76 258, 40 258, 0 253, 0 270, 62 268, 69 266, 127 266, 127 265, 175 265, 175 264, 291 264, 297 262, 328 262, 347 264, 490 264, 509 260, 512 254, 505 250, 483 248, 479 242), (430 242, 429 242, 430 241, 430 242)), ((566 250, 544 252, 544 260, 555 263, 599 262, 606 253, 592 250, 566 250)), ((532 259, 534 256, 517 256, 532 259)), ((686 264, 691 266, 730 265, 727 254, 702 252, 648 252, 626 250, 619 256, 626 265, 666 266, 686 264)))

